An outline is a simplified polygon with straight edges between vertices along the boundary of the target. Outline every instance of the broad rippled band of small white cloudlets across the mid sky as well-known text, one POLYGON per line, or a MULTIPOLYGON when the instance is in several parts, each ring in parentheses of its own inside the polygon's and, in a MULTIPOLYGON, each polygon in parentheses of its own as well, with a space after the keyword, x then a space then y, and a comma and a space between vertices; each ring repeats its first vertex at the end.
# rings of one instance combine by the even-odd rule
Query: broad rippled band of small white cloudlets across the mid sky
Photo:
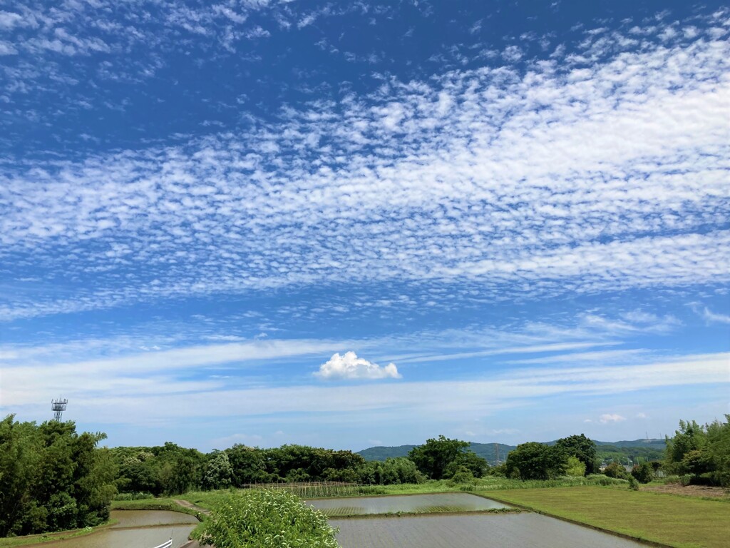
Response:
MULTIPOLYGON (((85 283, 12 292, 0 319, 361 281, 488 299, 726 283, 730 46, 682 37, 580 67, 391 78, 243 134, 4 167, 4 264, 32 251, 85 283)), ((647 326, 637 314, 622 323, 647 326)))

